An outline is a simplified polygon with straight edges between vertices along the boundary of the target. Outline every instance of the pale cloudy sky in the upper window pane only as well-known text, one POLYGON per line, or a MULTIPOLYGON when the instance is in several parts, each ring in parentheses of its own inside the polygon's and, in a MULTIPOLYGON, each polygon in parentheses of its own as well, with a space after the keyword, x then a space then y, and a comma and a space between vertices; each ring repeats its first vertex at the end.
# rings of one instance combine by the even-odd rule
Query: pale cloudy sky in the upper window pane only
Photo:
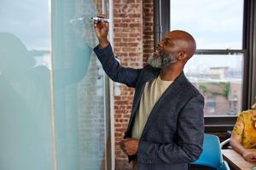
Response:
POLYGON ((242 0, 171 0, 171 30, 189 31, 198 49, 241 49, 242 13, 242 0))

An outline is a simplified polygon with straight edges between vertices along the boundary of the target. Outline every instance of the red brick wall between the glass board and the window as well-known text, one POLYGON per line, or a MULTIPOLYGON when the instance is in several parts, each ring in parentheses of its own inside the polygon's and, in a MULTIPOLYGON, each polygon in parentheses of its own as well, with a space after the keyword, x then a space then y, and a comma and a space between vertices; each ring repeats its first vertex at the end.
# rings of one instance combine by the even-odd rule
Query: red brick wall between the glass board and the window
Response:
MULTIPOLYGON (((121 65, 142 68, 154 48, 153 0, 113 0, 113 50, 121 65)), ((131 114, 134 90, 114 84, 115 166, 131 169, 127 156, 120 150, 131 114)))

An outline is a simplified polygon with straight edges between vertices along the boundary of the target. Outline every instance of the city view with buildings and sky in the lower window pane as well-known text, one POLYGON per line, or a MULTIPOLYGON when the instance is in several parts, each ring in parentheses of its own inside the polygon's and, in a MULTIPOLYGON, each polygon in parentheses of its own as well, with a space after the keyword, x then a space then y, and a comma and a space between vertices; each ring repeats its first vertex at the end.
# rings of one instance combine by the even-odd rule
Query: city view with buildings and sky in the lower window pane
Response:
POLYGON ((204 95, 206 116, 241 111, 242 65, 242 55, 195 55, 189 61, 185 74, 204 95))

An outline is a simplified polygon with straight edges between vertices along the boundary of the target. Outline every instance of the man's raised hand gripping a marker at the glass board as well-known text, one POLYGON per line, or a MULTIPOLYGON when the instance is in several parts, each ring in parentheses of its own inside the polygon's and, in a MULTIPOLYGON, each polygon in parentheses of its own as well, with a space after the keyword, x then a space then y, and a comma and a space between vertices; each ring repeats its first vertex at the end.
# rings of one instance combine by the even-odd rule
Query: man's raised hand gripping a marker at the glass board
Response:
MULTIPOLYGON (((106 18, 106 14, 99 14, 96 17, 98 18, 106 18)), ((94 27, 96 31, 96 37, 98 37, 99 45, 101 48, 106 48, 108 46, 108 22, 102 21, 94 21, 94 27)))

